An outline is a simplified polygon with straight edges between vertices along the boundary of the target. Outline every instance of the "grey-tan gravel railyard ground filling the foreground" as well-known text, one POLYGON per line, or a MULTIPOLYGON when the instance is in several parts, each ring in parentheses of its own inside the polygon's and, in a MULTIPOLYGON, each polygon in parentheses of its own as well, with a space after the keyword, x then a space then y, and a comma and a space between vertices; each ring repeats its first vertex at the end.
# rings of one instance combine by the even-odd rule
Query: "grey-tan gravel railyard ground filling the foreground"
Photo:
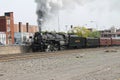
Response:
POLYGON ((120 80, 120 47, 36 53, 0 62, 0 80, 120 80))

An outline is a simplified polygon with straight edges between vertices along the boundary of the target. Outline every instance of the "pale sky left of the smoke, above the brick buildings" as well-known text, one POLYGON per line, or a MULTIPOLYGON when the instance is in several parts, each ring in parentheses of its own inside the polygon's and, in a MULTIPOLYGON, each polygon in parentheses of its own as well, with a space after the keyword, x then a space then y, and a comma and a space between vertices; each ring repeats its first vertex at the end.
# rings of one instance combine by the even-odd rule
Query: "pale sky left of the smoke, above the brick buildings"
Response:
POLYGON ((34 0, 0 0, 0 15, 4 12, 14 12, 15 23, 29 22, 36 25, 36 3, 34 0))

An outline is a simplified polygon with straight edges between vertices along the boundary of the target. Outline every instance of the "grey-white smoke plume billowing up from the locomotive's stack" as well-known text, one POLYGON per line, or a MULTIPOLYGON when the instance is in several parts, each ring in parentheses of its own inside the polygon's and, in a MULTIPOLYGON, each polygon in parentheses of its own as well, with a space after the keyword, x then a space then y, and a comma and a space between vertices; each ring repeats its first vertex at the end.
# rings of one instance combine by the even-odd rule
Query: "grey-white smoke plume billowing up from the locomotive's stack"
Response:
MULTIPOLYGON (((45 19, 58 14, 60 10, 73 9, 77 5, 83 5, 91 0, 35 0, 37 3, 38 24, 42 26, 45 19)), ((93 0, 92 0, 93 1, 93 0)))

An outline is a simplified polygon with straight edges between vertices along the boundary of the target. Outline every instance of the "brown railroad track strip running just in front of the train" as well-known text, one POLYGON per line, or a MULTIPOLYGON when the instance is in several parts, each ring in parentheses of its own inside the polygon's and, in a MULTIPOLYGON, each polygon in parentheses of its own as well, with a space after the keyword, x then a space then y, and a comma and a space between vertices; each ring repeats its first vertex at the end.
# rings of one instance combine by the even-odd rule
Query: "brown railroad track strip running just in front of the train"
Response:
POLYGON ((8 61, 15 61, 15 60, 25 60, 25 59, 37 59, 37 58, 45 58, 45 57, 52 57, 62 54, 72 54, 72 53, 82 53, 85 51, 98 51, 98 50, 105 50, 105 49, 120 49, 120 47, 108 47, 108 48, 87 48, 87 49, 75 49, 75 50, 64 50, 64 51, 57 51, 57 52, 36 52, 36 53, 23 53, 23 54, 13 54, 13 55, 0 55, 0 62, 8 62, 8 61))

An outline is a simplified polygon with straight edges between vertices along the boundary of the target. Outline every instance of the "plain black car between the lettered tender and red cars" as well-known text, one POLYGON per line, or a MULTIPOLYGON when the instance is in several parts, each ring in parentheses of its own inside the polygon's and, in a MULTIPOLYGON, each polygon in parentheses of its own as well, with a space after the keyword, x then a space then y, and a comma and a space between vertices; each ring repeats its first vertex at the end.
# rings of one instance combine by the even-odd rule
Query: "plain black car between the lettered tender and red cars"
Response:
POLYGON ((86 38, 86 47, 99 47, 100 46, 100 40, 99 38, 86 38))

